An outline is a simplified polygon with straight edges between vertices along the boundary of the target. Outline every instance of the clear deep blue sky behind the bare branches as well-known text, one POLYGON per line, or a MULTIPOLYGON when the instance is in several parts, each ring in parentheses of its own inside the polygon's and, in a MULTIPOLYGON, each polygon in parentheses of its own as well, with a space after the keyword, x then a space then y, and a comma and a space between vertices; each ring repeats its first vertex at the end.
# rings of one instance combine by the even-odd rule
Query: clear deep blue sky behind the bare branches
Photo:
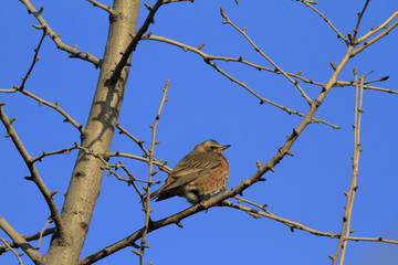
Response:
MULTIPOLYGON (((148 1, 153 4, 155 1, 148 1)), ((206 42, 203 52, 239 57, 270 66, 263 57, 230 25, 223 25, 220 7, 240 28, 245 26, 252 40, 284 71, 326 82, 332 67, 338 63, 346 46, 336 33, 315 12, 302 3, 283 1, 232 0, 182 2, 163 7, 150 25, 155 35, 174 39, 198 46, 206 42)), ((355 28, 357 13, 365 1, 320 1, 316 6, 343 33, 355 28)), ((108 18, 86 1, 32 1, 36 9, 44 7, 43 17, 61 34, 61 40, 83 52, 102 57, 108 18)), ((112 4, 111 1, 104 2, 112 4)), ((3 3, 0 17, 2 42, 0 44, 0 88, 20 84, 30 66, 33 49, 41 32, 38 24, 19 1, 3 3)), ((398 10, 395 0, 370 1, 363 19, 359 35, 384 22, 398 10)), ((139 24, 147 14, 142 7, 139 24)), ((352 60, 341 74, 341 81, 353 80, 353 68, 359 74, 375 71, 369 78, 389 75, 380 87, 398 89, 398 29, 387 38, 352 60)), ((87 62, 69 59, 46 38, 41 60, 33 70, 25 88, 50 102, 59 102, 74 119, 84 124, 95 89, 98 70, 87 62)), ((238 186, 255 172, 255 161, 266 162, 281 147, 286 134, 292 132, 301 118, 259 99, 192 53, 153 41, 142 41, 133 55, 125 100, 119 123, 149 147, 149 125, 161 98, 161 88, 170 80, 169 102, 165 105, 158 126, 156 148, 158 159, 174 167, 195 145, 216 139, 221 145, 232 145, 226 151, 230 161, 229 188, 238 186)), ((307 104, 297 89, 283 76, 259 72, 235 63, 218 63, 235 78, 245 82, 263 97, 305 113, 307 104)), ((315 98, 316 86, 303 84, 305 92, 315 98)), ((41 106, 21 94, 0 94, 7 102, 9 117, 24 146, 32 156, 42 151, 73 146, 80 140, 77 131, 54 110, 41 106)), ((282 218, 301 221, 310 227, 339 233, 345 205, 344 191, 348 190, 353 156, 354 87, 336 87, 329 93, 317 115, 342 126, 335 130, 322 124, 310 125, 292 148, 295 155, 284 158, 275 172, 264 177, 244 192, 244 198, 266 203, 269 210, 282 218)), ((365 91, 363 126, 360 132, 364 151, 360 155, 356 201, 352 229, 354 236, 398 240, 398 141, 396 132, 398 95, 365 91)), ((6 129, 0 127, 0 134, 6 129)), ((29 235, 41 230, 50 215, 35 186, 23 177, 29 174, 20 155, 9 138, 0 138, 0 215, 20 233, 29 235)), ((112 151, 142 155, 139 148, 123 135, 115 135, 112 151)), ((76 151, 43 159, 38 165, 41 177, 62 205, 76 151)), ((113 160, 116 162, 117 160, 113 160)), ((147 178, 145 163, 123 160, 140 179, 147 178)), ((158 173, 164 180, 166 173, 158 173)), ((138 195, 132 187, 104 177, 102 193, 94 212, 83 256, 112 244, 142 227, 144 214, 138 195)), ((233 201, 233 200, 232 200, 233 201)), ((153 204, 153 219, 158 220, 189 206, 181 198, 153 204)), ((268 219, 254 220, 232 209, 210 209, 181 222, 184 229, 171 225, 148 235, 150 248, 146 262, 154 264, 329 264, 337 240, 318 237, 295 231, 268 219)), ((1 231, 1 237, 7 235, 1 231)), ((49 239, 43 241, 45 251, 49 239)), ((20 252, 20 250, 19 250, 20 252)), ((377 243, 349 242, 348 265, 384 264, 398 261, 398 246, 377 243)), ((23 256, 24 264, 31 264, 23 256)), ((0 256, 0 264, 17 264, 11 253, 0 256)), ((138 264, 138 257, 125 248, 97 264, 138 264)))

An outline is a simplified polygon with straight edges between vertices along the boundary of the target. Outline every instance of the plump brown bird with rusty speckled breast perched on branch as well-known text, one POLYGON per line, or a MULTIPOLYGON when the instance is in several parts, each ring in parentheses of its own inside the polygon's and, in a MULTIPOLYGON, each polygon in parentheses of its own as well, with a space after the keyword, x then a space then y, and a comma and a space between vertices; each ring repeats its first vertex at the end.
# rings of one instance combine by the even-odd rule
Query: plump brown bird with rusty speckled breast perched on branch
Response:
POLYGON ((150 199, 163 201, 178 195, 196 204, 227 190, 229 163, 216 140, 197 145, 181 159, 167 177, 165 184, 150 194, 150 199))

